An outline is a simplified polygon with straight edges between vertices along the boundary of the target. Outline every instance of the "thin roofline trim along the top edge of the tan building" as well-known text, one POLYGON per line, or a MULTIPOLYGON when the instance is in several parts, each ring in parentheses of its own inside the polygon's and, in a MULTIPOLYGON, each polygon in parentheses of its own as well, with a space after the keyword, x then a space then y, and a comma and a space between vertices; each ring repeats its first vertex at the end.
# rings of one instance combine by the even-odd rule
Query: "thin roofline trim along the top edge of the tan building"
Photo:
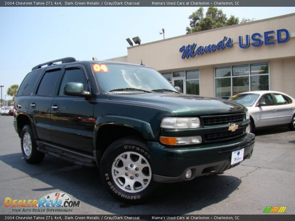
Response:
POLYGON ((127 49, 129 49, 129 48, 135 48, 135 47, 140 47, 140 46, 143 46, 143 45, 154 44, 154 43, 158 43, 158 42, 162 42, 162 41, 169 41, 169 40, 172 40, 172 39, 181 38, 181 37, 185 37, 185 36, 203 34, 203 33, 206 33, 206 32, 212 32, 212 31, 217 31, 217 30, 222 30, 222 29, 229 29, 229 28, 234 28, 234 27, 243 26, 243 25, 251 25, 251 24, 255 24, 255 23, 260 23, 260 22, 264 22, 264 21, 275 20, 275 19, 284 18, 284 17, 291 17, 291 16, 295 16, 295 13, 280 15, 280 16, 276 16, 276 17, 265 18, 265 19, 261 19, 261 20, 257 20, 257 21, 250 21, 250 22, 246 22, 246 23, 242 23, 242 24, 237 24, 237 25, 229 25, 229 26, 224 26, 224 27, 220 27, 220 28, 215 28, 215 29, 209 29, 209 30, 205 30, 205 31, 199 31, 199 32, 184 34, 184 35, 175 36, 175 37, 171 37, 171 38, 167 38, 167 39, 163 39, 163 40, 158 40, 158 41, 152 41, 152 42, 144 43, 144 44, 141 44, 141 45, 134 45, 134 46, 131 46, 131 47, 127 47, 127 49))

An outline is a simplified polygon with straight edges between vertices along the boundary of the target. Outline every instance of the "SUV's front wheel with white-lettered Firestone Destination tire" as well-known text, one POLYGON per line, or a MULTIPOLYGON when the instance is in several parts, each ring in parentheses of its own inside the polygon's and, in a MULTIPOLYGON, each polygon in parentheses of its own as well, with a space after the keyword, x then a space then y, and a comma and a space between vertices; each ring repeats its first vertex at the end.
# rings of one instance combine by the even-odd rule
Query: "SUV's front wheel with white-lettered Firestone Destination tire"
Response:
POLYGON ((147 200, 157 183, 153 181, 147 145, 136 138, 113 142, 100 162, 100 176, 108 192, 129 204, 147 200))

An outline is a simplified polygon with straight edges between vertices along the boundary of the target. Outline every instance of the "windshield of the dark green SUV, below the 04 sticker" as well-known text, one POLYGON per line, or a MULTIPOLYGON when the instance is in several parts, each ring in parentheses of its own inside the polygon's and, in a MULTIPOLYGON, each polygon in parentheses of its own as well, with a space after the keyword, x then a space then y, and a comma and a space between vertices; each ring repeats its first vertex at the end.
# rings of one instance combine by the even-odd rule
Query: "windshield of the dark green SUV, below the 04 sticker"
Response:
POLYGON ((104 92, 116 89, 138 89, 152 91, 157 89, 175 88, 155 69, 126 64, 105 64, 108 72, 94 71, 97 84, 104 92))

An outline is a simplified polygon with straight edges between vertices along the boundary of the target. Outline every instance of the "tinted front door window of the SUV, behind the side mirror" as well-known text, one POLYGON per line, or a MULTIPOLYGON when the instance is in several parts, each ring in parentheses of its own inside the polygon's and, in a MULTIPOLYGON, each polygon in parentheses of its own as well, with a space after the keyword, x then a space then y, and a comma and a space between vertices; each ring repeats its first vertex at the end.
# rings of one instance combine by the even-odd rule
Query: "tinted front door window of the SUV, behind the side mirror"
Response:
MULTIPOLYGON (((78 82, 82 83, 84 86, 84 90, 86 88, 86 80, 84 72, 81 69, 70 69, 65 71, 65 75, 61 82, 61 87, 59 90, 59 95, 64 95, 64 87, 66 83, 69 82, 78 82)), ((65 96, 65 95, 64 95, 65 96)))

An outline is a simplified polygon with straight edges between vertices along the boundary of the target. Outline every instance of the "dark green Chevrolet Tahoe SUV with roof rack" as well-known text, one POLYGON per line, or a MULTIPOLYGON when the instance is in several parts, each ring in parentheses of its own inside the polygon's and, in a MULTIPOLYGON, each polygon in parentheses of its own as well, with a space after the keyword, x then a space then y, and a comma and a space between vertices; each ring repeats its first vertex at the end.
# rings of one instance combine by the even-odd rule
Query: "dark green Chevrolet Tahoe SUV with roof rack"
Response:
POLYGON ((28 163, 46 153, 97 165, 112 196, 129 203, 145 200, 159 182, 230 169, 254 147, 244 106, 182 94, 144 65, 71 57, 37 65, 14 109, 28 163))

